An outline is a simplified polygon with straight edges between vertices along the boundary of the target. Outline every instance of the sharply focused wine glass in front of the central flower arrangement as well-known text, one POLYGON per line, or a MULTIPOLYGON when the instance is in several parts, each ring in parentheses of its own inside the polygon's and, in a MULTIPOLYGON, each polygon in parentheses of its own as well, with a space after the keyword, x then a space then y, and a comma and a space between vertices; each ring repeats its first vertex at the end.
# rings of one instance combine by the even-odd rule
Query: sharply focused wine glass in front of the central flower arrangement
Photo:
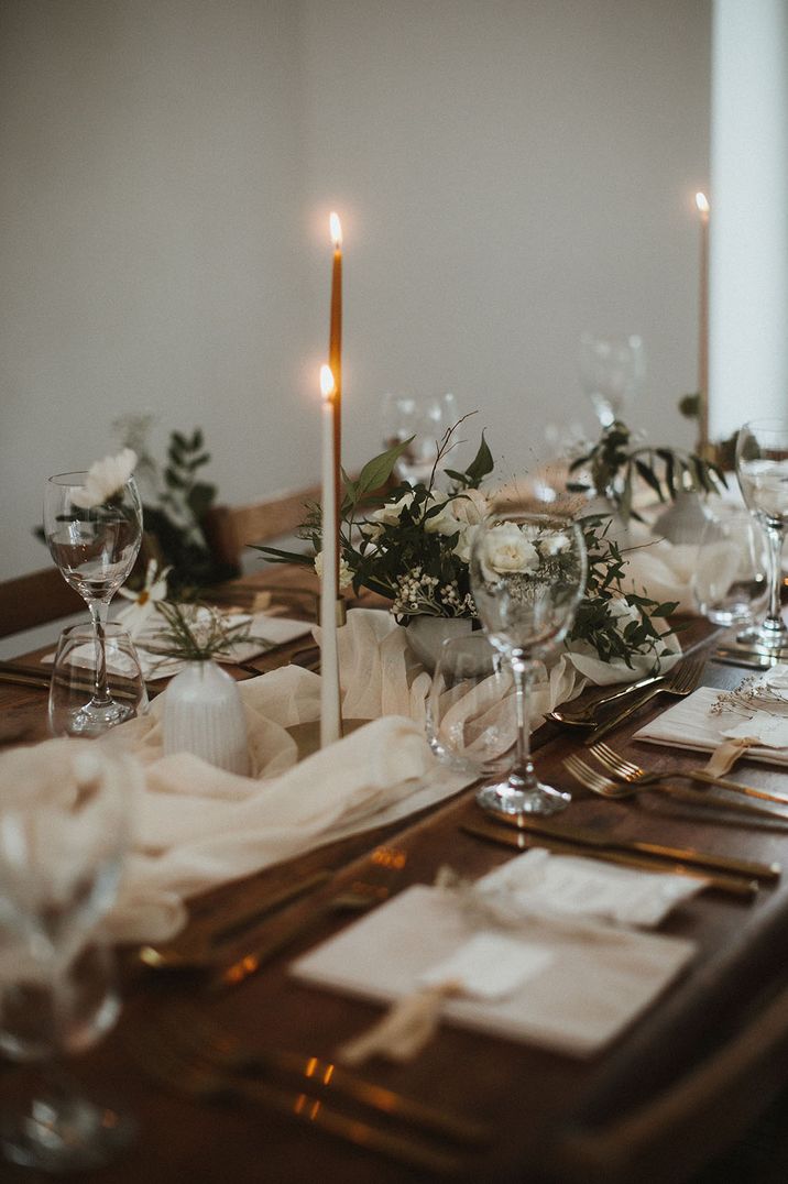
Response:
POLYGON ((480 805, 505 813, 551 815, 569 793, 537 779, 531 760, 527 697, 533 663, 563 641, 585 590, 583 534, 569 519, 493 513, 470 552, 470 587, 493 645, 514 675, 517 755, 506 780, 483 786, 480 805))

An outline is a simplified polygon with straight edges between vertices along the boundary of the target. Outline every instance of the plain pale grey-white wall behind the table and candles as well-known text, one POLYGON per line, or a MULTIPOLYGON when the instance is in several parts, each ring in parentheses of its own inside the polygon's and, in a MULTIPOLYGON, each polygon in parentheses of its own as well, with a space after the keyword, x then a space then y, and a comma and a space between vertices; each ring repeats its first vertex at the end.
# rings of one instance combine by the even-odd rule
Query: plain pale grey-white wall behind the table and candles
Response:
POLYGON ((592 427, 585 328, 690 444, 709 53, 709 0, 4 0, 0 575, 123 413, 200 424, 226 500, 314 478, 331 208, 348 466, 402 386, 523 471, 592 427))

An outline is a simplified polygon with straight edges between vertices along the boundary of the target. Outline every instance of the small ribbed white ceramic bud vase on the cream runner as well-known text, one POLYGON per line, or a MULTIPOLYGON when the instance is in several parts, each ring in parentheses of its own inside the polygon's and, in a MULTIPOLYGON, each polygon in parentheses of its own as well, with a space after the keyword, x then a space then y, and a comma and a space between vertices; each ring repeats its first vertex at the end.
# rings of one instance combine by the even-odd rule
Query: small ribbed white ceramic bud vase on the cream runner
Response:
POLYGON ((191 752, 217 768, 248 777, 246 720, 238 686, 216 662, 190 662, 164 696, 165 755, 191 752))

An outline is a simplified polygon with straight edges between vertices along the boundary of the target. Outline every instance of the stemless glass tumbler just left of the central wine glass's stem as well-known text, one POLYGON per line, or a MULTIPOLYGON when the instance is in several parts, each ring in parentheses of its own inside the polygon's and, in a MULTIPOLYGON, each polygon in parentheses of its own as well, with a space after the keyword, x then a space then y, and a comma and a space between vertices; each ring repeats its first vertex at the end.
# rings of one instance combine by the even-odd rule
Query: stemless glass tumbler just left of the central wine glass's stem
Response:
POLYGON ((443 764, 472 777, 508 773, 517 740, 514 680, 482 632, 443 642, 425 716, 429 746, 443 764))

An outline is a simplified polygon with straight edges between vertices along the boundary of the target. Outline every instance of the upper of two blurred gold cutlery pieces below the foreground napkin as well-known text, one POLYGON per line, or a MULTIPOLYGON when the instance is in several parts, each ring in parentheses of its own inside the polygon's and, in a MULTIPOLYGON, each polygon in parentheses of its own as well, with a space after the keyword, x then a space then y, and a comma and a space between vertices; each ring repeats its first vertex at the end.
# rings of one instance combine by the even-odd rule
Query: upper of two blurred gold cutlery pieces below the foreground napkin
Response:
POLYGON ((469 1146, 489 1141, 489 1131, 473 1119, 409 1098, 357 1076, 333 1061, 287 1049, 248 1049, 238 1037, 197 1008, 186 1005, 161 1023, 161 1037, 184 1053, 242 1077, 271 1075, 299 1082, 326 1096, 347 1098, 395 1120, 469 1146))

